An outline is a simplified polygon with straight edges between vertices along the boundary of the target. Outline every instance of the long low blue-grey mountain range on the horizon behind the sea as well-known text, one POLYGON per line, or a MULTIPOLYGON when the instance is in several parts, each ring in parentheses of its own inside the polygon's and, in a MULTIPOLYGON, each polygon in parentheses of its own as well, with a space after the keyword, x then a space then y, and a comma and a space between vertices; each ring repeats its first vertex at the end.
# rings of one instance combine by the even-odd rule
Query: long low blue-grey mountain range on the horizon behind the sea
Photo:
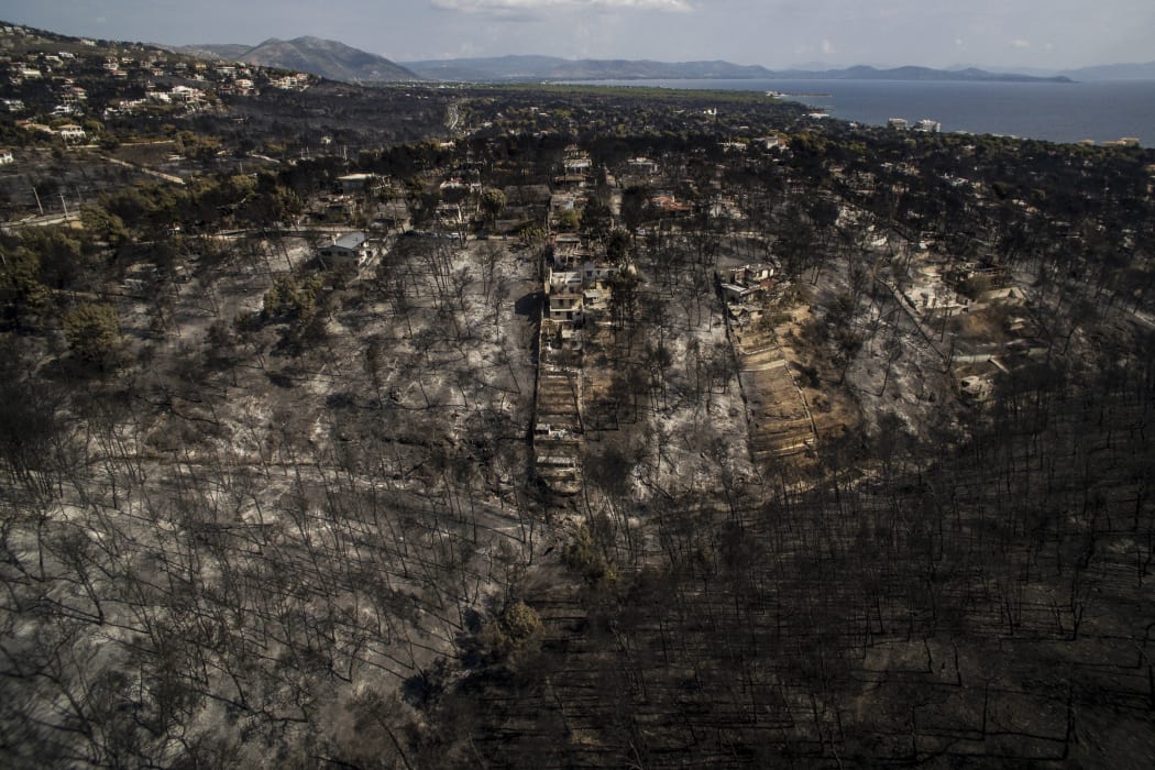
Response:
POLYGON ((845 69, 770 70, 729 61, 634 61, 626 59, 558 59, 556 57, 498 57, 493 59, 446 59, 409 61, 404 65, 423 77, 445 81, 493 82, 539 80, 904 80, 904 81, 1055 81, 1065 77, 1033 77, 989 73, 974 67, 947 70, 929 67, 849 67, 845 69))

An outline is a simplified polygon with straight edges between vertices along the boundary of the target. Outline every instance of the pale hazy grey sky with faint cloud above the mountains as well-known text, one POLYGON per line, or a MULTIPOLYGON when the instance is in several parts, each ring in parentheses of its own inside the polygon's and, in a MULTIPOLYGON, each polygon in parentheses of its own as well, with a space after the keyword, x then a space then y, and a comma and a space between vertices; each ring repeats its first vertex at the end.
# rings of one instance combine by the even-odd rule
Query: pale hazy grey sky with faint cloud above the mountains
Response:
POLYGON ((1153 0, 0 0, 0 18, 165 44, 315 35, 395 60, 1065 68, 1155 59, 1153 0))

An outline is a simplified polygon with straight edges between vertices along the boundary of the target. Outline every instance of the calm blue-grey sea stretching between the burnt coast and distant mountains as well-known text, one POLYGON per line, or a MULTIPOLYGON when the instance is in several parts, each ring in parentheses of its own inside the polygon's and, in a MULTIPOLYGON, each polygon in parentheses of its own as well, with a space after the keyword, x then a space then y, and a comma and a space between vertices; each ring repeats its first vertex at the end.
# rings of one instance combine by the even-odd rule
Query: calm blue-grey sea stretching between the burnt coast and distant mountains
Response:
POLYGON ((871 126, 885 126, 891 118, 911 124, 925 118, 941 124, 944 132, 1051 142, 1133 136, 1143 147, 1155 147, 1155 81, 628 80, 596 84, 776 91, 833 118, 871 126))

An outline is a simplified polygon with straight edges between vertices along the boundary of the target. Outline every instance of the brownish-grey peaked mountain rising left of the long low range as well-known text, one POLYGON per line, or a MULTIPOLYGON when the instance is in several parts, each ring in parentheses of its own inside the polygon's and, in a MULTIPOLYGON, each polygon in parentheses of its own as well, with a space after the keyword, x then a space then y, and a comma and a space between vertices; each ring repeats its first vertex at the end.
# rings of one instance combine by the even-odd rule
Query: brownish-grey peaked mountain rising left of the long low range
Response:
POLYGON ((292 40, 271 38, 256 47, 244 45, 189 45, 178 48, 193 55, 245 61, 320 75, 349 83, 386 83, 422 80, 419 75, 383 57, 319 37, 292 40))

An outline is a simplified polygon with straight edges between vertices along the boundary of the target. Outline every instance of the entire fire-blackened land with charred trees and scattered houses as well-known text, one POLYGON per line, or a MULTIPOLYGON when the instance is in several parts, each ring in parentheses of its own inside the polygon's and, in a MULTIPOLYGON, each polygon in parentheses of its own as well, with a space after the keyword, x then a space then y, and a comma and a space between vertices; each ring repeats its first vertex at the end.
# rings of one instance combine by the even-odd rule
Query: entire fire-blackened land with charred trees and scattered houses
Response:
POLYGON ((1155 756, 1150 150, 0 65, 7 767, 1155 756))

